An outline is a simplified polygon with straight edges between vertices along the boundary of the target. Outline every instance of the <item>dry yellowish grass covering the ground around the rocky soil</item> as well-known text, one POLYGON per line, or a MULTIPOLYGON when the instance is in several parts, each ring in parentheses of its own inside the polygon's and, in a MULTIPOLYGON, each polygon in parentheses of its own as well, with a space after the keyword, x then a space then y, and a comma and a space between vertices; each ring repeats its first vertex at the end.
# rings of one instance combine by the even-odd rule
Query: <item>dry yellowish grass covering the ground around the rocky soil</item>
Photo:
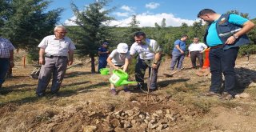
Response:
MULTIPOLYGON (((18 60, 22 61, 22 59, 18 60)), ((190 60, 186 58, 185 61, 185 67, 189 67, 190 60)), ((0 130, 29 131, 28 128, 33 128, 37 123, 42 125, 42 123, 50 122, 55 115, 62 114, 63 111, 80 110, 84 106, 89 106, 88 109, 93 110, 90 106, 99 104, 122 106, 124 102, 133 98, 132 95, 123 94, 122 87, 118 87, 120 90, 118 96, 112 96, 108 82, 110 75, 90 74, 90 66, 67 70, 60 89, 61 98, 54 99, 50 94, 44 98, 38 98, 35 96, 38 80, 29 77, 34 67, 27 65, 23 68, 21 64, 17 62, 14 67, 14 78, 7 79, 3 85, 4 88, 0 90, 2 94, 0 95, 0 130)), ((195 118, 193 124, 186 124, 188 125, 186 131, 198 131, 200 128, 211 126, 210 121, 213 117, 207 118, 207 116, 212 114, 211 110, 215 107, 225 107, 227 110, 242 107, 243 110, 248 111, 243 113, 244 116, 255 114, 256 97, 253 96, 256 94, 255 87, 248 87, 244 90, 251 95, 247 99, 222 101, 218 98, 206 98, 202 96, 202 93, 209 90, 209 78, 195 76, 196 70, 191 69, 174 74, 173 78, 165 78, 162 74, 168 72, 168 66, 168 62, 162 63, 158 78, 160 90, 155 91, 154 94, 167 94, 179 104, 193 106, 204 114, 202 117, 195 118)), ((140 94, 142 93, 136 95, 140 94)))

